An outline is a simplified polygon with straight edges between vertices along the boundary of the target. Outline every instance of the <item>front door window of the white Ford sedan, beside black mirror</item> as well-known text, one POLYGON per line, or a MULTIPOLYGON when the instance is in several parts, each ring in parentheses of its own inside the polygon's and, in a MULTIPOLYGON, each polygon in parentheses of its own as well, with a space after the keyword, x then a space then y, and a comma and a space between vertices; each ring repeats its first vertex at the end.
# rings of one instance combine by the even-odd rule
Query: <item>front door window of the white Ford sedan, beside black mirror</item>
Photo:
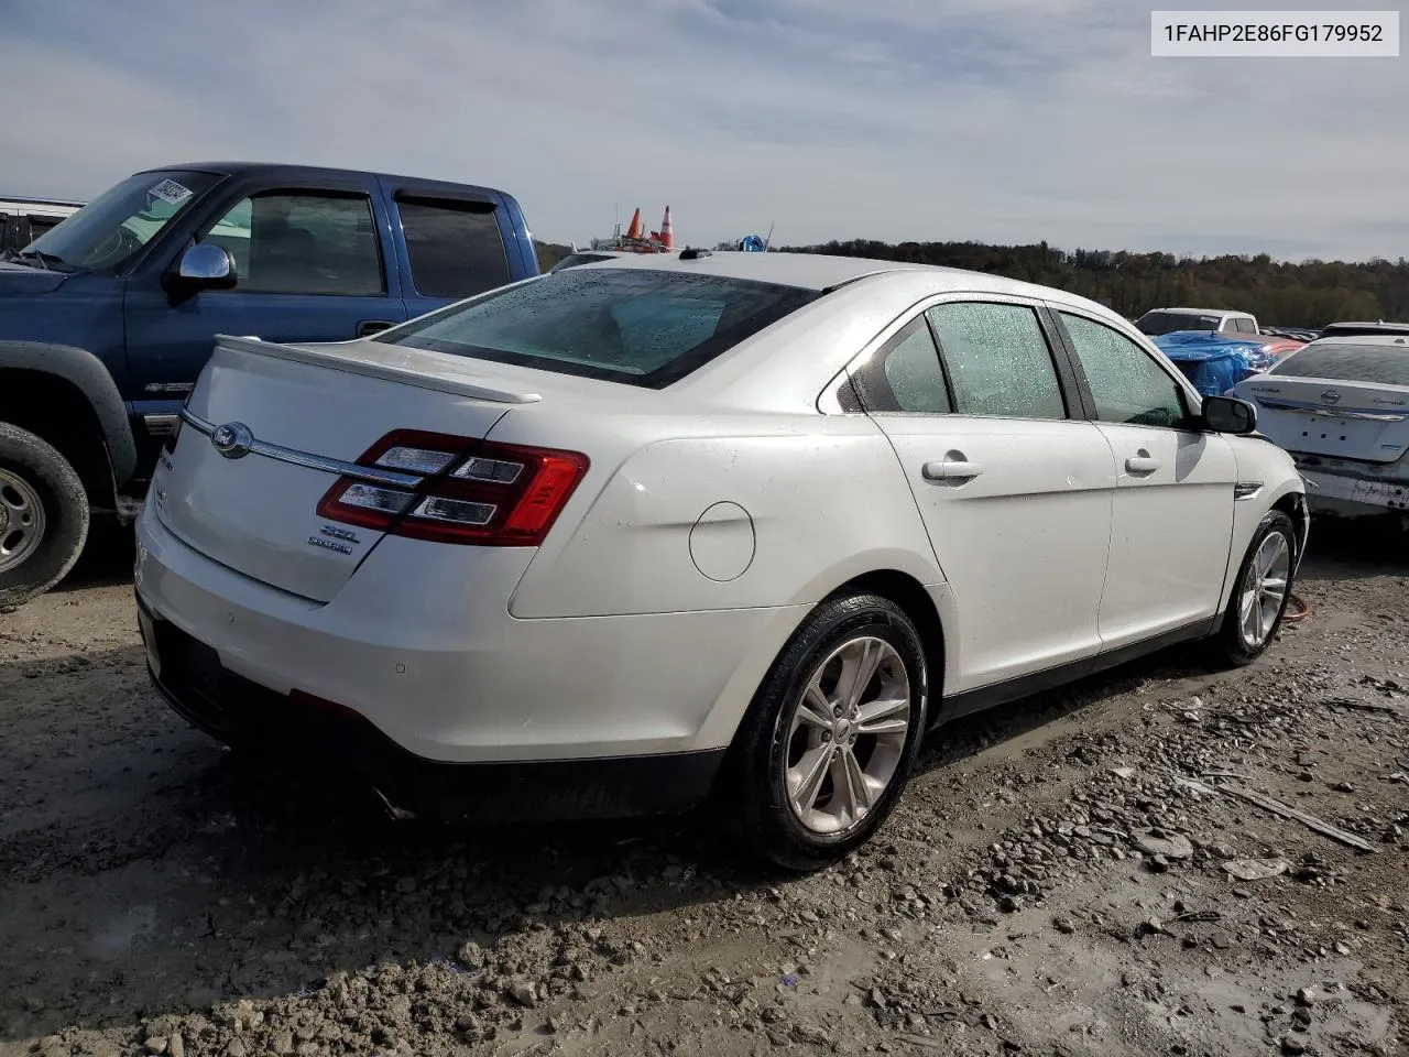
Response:
POLYGON ((1096 419, 1130 426, 1182 427, 1188 423, 1184 389, 1136 342, 1103 323, 1061 313, 1096 419))

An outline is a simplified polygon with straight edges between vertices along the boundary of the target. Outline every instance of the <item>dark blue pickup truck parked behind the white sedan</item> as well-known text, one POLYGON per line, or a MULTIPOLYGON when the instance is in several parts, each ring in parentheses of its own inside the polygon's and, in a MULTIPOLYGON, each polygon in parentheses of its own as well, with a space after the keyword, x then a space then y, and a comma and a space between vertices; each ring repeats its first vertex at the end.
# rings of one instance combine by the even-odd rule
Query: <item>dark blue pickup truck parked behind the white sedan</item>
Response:
POLYGON ((0 606, 130 520, 216 334, 342 341, 538 273, 489 187, 294 165, 139 172, 0 261, 0 606))

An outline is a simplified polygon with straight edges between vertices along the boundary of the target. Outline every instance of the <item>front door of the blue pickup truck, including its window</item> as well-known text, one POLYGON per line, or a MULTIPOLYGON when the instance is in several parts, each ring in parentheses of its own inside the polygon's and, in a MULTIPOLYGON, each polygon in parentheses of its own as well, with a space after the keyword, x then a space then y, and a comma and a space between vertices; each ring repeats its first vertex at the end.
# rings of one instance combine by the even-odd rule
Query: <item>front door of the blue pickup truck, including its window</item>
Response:
POLYGON ((232 189, 196 231, 196 241, 234 256, 232 289, 173 299, 159 275, 134 278, 125 316, 139 414, 179 409, 216 334, 347 341, 406 319, 400 282, 382 261, 386 217, 372 193, 375 178, 366 180, 232 189))

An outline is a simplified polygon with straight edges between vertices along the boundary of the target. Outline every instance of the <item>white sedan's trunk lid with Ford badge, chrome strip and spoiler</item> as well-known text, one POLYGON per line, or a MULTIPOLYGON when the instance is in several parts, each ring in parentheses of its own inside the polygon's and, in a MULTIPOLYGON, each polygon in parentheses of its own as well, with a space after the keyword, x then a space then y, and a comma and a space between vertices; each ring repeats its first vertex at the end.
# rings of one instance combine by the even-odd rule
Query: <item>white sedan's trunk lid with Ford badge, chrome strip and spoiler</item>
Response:
POLYGON ((373 342, 221 335, 162 454, 156 516, 214 561, 328 602, 385 533, 320 517, 320 500, 348 474, 413 489, 427 468, 355 464, 407 427, 464 438, 468 450, 511 407, 540 399, 500 381, 506 373, 373 342))

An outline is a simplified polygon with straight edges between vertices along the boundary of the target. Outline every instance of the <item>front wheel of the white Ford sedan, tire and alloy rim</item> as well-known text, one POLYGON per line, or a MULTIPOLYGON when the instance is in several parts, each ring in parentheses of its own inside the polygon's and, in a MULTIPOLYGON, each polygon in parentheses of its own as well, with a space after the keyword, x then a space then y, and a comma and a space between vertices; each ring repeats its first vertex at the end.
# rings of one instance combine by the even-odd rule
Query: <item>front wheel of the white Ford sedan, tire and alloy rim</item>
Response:
POLYGON ((1223 624, 1209 641, 1219 667, 1248 665, 1277 638, 1292 598, 1296 557, 1296 526, 1281 510, 1270 510, 1253 533, 1223 613, 1223 624), (1268 593, 1278 583, 1279 600, 1268 593))

